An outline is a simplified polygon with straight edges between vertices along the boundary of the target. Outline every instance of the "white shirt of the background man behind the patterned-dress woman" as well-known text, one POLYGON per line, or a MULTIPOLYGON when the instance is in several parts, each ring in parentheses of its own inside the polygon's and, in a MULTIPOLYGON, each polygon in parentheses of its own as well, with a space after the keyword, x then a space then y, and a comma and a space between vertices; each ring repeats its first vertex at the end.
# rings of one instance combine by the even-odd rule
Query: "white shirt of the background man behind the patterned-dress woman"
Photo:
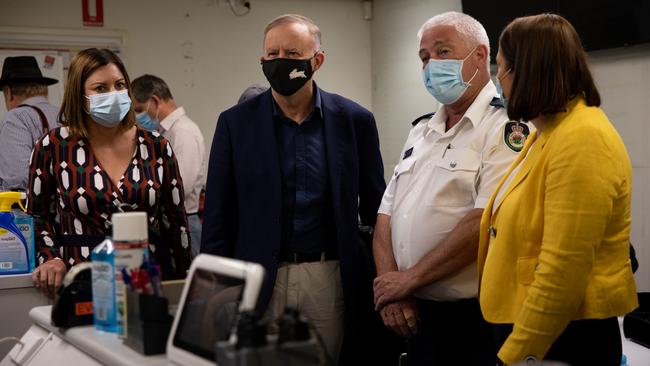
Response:
POLYGON ((178 161, 185 190, 185 210, 188 214, 199 210, 199 196, 205 183, 205 143, 199 126, 185 114, 183 107, 176 108, 160 121, 160 131, 169 140, 178 161))

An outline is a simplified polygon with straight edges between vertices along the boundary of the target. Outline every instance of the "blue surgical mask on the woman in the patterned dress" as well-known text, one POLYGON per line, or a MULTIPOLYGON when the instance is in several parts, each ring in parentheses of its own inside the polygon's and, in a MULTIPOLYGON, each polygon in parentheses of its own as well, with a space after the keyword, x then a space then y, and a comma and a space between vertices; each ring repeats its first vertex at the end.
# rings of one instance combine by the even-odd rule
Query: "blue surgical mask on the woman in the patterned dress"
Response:
POLYGON ((127 90, 86 96, 90 100, 88 114, 93 121, 104 127, 117 126, 131 109, 131 98, 127 90))

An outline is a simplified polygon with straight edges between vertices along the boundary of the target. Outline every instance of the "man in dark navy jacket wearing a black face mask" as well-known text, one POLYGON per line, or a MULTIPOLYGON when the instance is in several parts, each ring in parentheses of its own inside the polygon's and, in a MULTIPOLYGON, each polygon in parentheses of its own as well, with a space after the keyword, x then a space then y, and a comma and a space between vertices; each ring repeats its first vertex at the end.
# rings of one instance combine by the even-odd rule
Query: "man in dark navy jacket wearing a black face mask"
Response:
POLYGON ((346 357, 361 352, 355 332, 371 313, 358 217, 374 225, 383 164, 373 115, 312 81, 324 60, 310 19, 283 15, 266 26, 261 66, 271 90, 219 116, 201 252, 263 264, 259 310, 271 332, 286 307, 300 309, 323 337, 323 361, 336 365, 341 354, 360 364, 346 357))

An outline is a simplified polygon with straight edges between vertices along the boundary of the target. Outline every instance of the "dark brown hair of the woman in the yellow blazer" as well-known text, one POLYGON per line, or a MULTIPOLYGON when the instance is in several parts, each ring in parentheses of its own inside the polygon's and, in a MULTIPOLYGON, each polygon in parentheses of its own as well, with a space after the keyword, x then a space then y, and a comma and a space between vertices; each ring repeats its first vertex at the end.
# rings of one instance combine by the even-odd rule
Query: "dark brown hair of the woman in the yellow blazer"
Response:
POLYGON ((563 17, 540 14, 513 20, 501 32, 499 52, 505 60, 503 69, 513 73, 510 119, 554 115, 576 97, 600 106, 580 37, 563 17))

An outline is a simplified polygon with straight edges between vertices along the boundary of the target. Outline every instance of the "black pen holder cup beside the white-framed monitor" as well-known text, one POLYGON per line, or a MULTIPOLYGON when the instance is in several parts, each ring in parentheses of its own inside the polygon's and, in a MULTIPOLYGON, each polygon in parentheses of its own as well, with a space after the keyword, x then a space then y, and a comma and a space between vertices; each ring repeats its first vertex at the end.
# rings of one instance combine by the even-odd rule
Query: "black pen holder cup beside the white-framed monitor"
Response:
POLYGON ((124 344, 144 354, 165 353, 173 317, 165 297, 126 291, 124 344))

